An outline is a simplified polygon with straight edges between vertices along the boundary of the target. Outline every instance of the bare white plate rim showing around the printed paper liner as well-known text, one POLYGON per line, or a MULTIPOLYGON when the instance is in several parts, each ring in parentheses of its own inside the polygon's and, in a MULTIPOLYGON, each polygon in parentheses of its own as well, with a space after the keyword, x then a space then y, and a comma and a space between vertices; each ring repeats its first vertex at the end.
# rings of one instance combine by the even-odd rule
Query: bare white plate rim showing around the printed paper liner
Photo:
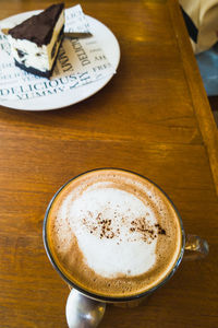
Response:
MULTIPOLYGON (((39 11, 24 12, 11 17, 8 17, 1 21, 1 25, 3 26, 13 26, 33 14, 37 14, 39 11)), ((116 36, 112 32, 102 23, 97 21, 94 17, 86 15, 86 19, 90 25, 90 30, 93 35, 97 38, 100 47, 102 48, 106 57, 109 62, 112 65, 114 70, 117 70, 119 61, 120 61, 120 47, 116 36)), ((0 55, 1 55, 0 50, 0 55)), ((68 90, 64 93, 49 96, 41 96, 34 99, 25 99, 25 101, 2 101, 0 99, 0 105, 22 110, 49 110, 49 109, 58 109, 62 107, 66 107, 69 105, 76 104, 81 101, 86 99, 87 97, 97 93, 100 89, 102 89, 113 77, 113 74, 109 74, 98 81, 95 81, 90 84, 86 84, 80 87, 76 87, 72 91, 68 90)))

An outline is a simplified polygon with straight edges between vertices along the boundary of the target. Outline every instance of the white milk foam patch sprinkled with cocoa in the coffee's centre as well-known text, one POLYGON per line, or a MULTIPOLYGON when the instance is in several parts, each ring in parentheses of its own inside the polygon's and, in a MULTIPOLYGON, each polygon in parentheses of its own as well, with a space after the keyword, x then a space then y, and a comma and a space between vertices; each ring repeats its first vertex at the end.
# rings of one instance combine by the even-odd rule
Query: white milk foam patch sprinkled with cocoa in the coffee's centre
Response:
POLYGON ((87 266, 106 278, 134 277, 156 263, 157 219, 133 194, 98 181, 70 194, 59 208, 87 266))

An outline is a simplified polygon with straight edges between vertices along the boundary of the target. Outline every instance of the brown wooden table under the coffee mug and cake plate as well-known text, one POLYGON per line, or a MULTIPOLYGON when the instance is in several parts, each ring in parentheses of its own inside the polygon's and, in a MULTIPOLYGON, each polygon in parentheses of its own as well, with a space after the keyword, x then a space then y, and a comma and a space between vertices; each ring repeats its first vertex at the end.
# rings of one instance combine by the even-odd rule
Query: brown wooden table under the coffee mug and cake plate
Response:
MULTIPOLYGON (((50 3, 1 0, 0 19, 50 3)), ((205 237, 210 253, 183 262, 147 304, 108 306, 100 327, 218 327, 218 137, 179 5, 82 5, 120 43, 121 62, 110 83, 60 110, 0 107, 0 327, 66 327, 69 289, 44 250, 44 214, 63 183, 102 166, 156 181, 185 230, 205 237)))

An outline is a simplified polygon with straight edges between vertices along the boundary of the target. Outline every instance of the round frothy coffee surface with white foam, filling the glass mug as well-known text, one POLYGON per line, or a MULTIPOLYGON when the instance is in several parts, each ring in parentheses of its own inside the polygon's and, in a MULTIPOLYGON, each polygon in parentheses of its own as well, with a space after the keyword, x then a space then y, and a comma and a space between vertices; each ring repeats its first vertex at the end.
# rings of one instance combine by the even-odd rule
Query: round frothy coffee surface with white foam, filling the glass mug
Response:
POLYGON ((132 295, 171 270, 181 247, 177 213, 156 186, 125 172, 72 180, 49 215, 61 270, 95 293, 132 295))

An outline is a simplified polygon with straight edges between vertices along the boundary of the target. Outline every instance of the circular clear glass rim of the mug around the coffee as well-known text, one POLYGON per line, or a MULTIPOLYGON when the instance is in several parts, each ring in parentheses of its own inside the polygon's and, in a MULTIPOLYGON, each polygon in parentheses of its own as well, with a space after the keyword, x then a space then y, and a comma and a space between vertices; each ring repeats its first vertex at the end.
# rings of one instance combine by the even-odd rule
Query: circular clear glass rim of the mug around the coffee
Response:
POLYGON ((153 180, 150 180, 149 178, 138 174, 138 173, 135 173, 133 171, 130 171, 130 169, 125 169, 125 168, 117 168, 117 167, 99 167, 99 168, 93 168, 93 169, 89 169, 89 171, 86 171, 86 172, 83 172, 76 176, 74 176, 73 178, 69 179, 65 184, 63 184, 57 191, 56 194, 53 195, 53 197, 51 198, 48 207, 47 207, 47 210, 46 210, 46 214, 45 214, 45 218, 44 218, 44 224, 43 224, 43 239, 44 239, 44 246, 45 246, 45 249, 46 249, 46 253, 47 253, 47 256, 52 265, 52 267, 55 268, 55 270, 61 276, 61 278, 72 288, 76 289, 78 292, 81 292, 82 294, 84 294, 85 296, 89 297, 89 298, 93 298, 93 300, 97 300, 97 301, 102 301, 102 302, 111 302, 111 303, 116 303, 116 302, 126 302, 126 301, 134 301, 134 300, 137 300, 137 298, 141 298, 141 297, 145 297, 147 295, 149 295, 150 293, 153 293, 154 291, 156 291, 157 289, 159 289, 160 286, 162 286, 173 274, 174 272, 177 271, 179 265, 181 263, 181 260, 183 258, 183 255, 184 255, 184 247, 185 247, 185 232, 184 232, 184 227, 183 227, 183 223, 182 223, 182 219, 181 219, 181 215, 178 211, 178 209, 175 208, 174 203, 172 202, 172 200, 169 198, 169 196, 161 189, 161 187, 159 187, 156 183, 154 183, 153 180), (179 224, 180 224, 180 227, 181 227, 181 235, 182 235, 182 241, 181 241, 181 249, 180 249, 180 253, 178 255, 178 258, 174 262, 174 266, 172 267, 172 269, 170 270, 170 272, 155 286, 153 286, 152 289, 149 290, 146 290, 144 292, 141 292, 138 294, 135 294, 135 295, 131 295, 131 296, 118 296, 118 297, 114 297, 114 296, 104 296, 104 295, 100 295, 100 294, 97 294, 97 293, 94 293, 94 292, 89 292, 81 286, 78 286, 75 282, 71 281, 62 271, 61 269, 58 267, 52 254, 51 254, 51 250, 49 248, 49 244, 48 244, 48 237, 47 237, 47 222, 48 222, 48 215, 49 215, 49 212, 51 210, 51 207, 52 207, 52 203, 53 201, 56 200, 56 198, 58 197, 58 195, 73 180, 75 180, 76 178, 78 178, 80 176, 83 176, 83 175, 86 175, 88 173, 92 173, 92 172, 96 172, 96 171, 121 171, 121 172, 126 172, 126 173, 130 173, 130 174, 133 174, 133 175, 136 175, 136 176, 140 176, 141 178, 149 181, 152 185, 154 185, 156 188, 158 188, 159 191, 161 191, 161 194, 164 194, 164 196, 167 198, 167 200, 169 201, 170 206, 172 207, 172 209, 174 210, 175 214, 177 214, 177 218, 178 218, 178 221, 179 221, 179 224))

